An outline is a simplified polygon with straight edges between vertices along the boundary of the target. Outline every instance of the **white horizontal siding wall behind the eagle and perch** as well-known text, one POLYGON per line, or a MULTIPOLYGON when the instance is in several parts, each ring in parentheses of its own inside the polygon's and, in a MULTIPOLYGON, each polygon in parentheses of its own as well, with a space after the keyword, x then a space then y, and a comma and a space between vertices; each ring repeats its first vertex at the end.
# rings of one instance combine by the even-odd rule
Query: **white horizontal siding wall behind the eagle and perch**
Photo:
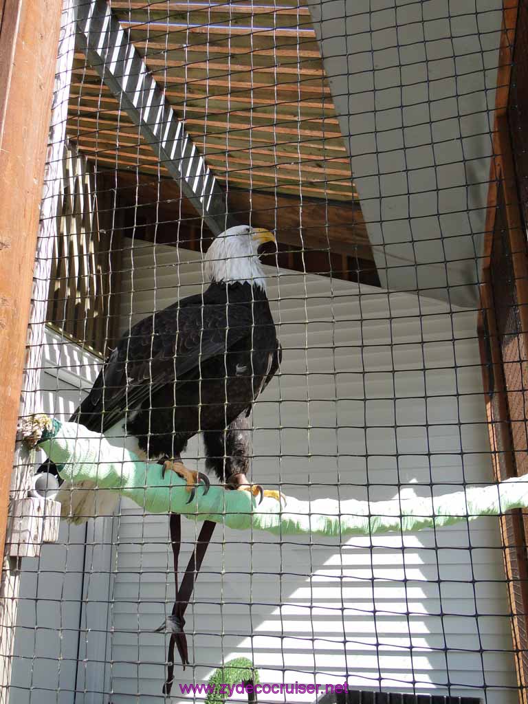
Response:
MULTIPOLYGON (((201 290, 195 253, 138 242, 125 269, 123 331, 201 290)), ((473 311, 295 272, 270 278, 268 296, 284 356, 253 413, 253 479, 280 480, 298 498, 371 500, 491 480, 473 311)), ((196 441, 188 455, 203 465, 196 441)), ((185 538, 194 535, 184 522, 185 538)), ((151 631, 172 605, 168 520, 123 506, 114 539, 106 684, 113 704, 163 700, 165 639, 151 631)), ((348 672, 358 689, 415 683, 420 692, 513 703, 503 580, 493 518, 341 546, 218 527, 199 603, 187 611, 197 665, 176 668, 173 700, 185 699, 179 684, 201 683, 222 660, 246 655, 264 682, 339 683, 348 672)))

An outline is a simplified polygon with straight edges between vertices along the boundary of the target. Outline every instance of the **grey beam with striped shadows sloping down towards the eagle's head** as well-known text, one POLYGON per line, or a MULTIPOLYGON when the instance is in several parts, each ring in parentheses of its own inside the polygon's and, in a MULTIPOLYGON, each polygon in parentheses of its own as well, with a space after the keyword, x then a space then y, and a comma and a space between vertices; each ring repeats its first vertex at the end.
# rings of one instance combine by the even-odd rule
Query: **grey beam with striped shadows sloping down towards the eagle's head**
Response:
POLYGON ((77 0, 77 40, 89 63, 213 234, 236 224, 193 139, 153 79, 106 0, 77 0))

